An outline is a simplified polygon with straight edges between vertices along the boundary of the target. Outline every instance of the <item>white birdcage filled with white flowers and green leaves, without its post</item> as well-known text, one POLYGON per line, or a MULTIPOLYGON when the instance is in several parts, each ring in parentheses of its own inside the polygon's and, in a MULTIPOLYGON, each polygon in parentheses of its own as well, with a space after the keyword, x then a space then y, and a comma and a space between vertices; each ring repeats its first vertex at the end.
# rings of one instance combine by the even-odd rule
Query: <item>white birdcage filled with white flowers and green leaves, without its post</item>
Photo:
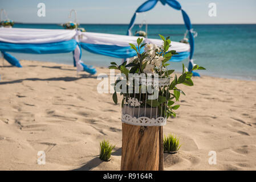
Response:
POLYGON ((192 71, 196 69, 205 69, 194 65, 192 71, 188 71, 182 64, 182 74, 177 77, 173 75, 174 70, 168 69, 168 61, 177 52, 169 51, 170 39, 162 39, 162 46, 143 43, 143 38, 137 39, 137 46, 130 44, 131 48, 137 53, 137 56, 127 63, 126 61, 117 65, 111 63, 109 69, 117 69, 121 76, 113 84, 115 92, 113 101, 117 104, 117 92, 123 95, 122 100, 122 121, 135 123, 141 126, 162 126, 165 125, 166 119, 170 116, 176 117, 174 110, 180 105, 174 105, 179 100, 180 94, 184 94, 181 89, 177 88, 178 84, 193 86, 192 71), (141 80, 136 81, 137 75, 141 80), (142 76, 141 76, 142 75, 142 76), (132 79, 131 79, 132 78, 132 79), (143 81, 151 79, 153 81, 143 81), (171 81, 172 79, 172 81, 171 81), (137 84, 136 84, 137 82, 137 84), (157 86, 155 86, 157 82, 157 86), (145 84, 146 83, 146 84, 145 84), (149 85, 147 85, 150 83, 149 85), (147 88, 155 89, 154 92, 147 91, 147 88), (153 97, 157 94, 157 97, 153 97))

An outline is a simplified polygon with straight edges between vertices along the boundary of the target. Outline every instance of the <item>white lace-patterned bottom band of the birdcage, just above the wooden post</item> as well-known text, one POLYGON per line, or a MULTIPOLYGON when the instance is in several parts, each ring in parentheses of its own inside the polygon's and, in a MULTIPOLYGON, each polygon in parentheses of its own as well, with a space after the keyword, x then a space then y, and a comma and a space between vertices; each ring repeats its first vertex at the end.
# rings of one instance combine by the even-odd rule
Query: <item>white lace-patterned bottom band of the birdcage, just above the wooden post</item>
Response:
POLYGON ((158 118, 148 118, 148 117, 131 117, 129 114, 122 114, 121 121, 123 123, 128 123, 130 125, 137 126, 164 126, 166 125, 166 118, 158 117, 158 118))

